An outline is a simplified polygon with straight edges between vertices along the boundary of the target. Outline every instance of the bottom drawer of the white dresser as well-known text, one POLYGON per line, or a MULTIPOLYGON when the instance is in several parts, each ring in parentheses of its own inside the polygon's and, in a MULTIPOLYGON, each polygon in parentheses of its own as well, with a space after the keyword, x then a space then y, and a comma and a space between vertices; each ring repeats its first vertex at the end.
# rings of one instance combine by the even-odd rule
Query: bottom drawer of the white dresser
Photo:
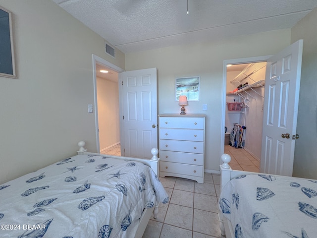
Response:
POLYGON ((181 174, 181 175, 190 175, 190 176, 198 176, 203 177, 204 167, 198 165, 186 165, 180 163, 172 163, 172 162, 159 162, 159 171, 173 173, 173 174, 181 174))

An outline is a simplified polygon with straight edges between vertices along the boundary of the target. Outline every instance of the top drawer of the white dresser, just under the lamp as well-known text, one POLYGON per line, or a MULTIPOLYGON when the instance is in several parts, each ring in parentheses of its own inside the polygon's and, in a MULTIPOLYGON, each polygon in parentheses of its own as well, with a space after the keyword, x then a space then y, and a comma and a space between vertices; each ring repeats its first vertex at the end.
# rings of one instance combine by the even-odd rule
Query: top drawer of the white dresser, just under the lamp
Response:
POLYGON ((204 129, 205 118, 160 117, 159 128, 204 129))

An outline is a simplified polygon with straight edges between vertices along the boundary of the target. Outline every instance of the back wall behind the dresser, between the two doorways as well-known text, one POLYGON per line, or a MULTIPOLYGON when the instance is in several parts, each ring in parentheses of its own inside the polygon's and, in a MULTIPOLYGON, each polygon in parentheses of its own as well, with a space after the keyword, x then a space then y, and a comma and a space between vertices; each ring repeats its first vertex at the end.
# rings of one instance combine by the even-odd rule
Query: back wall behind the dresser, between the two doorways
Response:
POLYGON ((125 55, 125 69, 158 68, 159 114, 179 112, 175 102, 176 77, 200 76, 200 101, 189 102, 186 113, 207 115, 205 169, 219 171, 225 106, 222 100, 225 93, 223 60, 272 55, 289 45, 290 29, 264 32, 217 42, 129 53, 125 55), (208 111, 202 111, 205 103, 208 111))

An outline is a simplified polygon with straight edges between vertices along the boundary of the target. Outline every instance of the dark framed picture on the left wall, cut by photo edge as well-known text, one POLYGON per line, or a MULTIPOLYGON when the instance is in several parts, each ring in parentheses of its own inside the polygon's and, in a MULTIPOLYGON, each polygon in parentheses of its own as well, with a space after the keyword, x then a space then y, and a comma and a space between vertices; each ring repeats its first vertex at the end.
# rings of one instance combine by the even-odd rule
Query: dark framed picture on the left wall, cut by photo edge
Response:
POLYGON ((0 76, 16 78, 11 12, 0 7, 0 76))

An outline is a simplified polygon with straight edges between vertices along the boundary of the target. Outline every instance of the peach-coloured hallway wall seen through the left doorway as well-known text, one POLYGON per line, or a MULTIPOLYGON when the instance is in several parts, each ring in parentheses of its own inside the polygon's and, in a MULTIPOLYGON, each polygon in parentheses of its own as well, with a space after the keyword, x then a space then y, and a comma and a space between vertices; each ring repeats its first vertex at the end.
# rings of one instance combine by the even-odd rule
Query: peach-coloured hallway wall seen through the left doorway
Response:
POLYGON ((97 77, 100 150, 120 143, 118 83, 97 77))

